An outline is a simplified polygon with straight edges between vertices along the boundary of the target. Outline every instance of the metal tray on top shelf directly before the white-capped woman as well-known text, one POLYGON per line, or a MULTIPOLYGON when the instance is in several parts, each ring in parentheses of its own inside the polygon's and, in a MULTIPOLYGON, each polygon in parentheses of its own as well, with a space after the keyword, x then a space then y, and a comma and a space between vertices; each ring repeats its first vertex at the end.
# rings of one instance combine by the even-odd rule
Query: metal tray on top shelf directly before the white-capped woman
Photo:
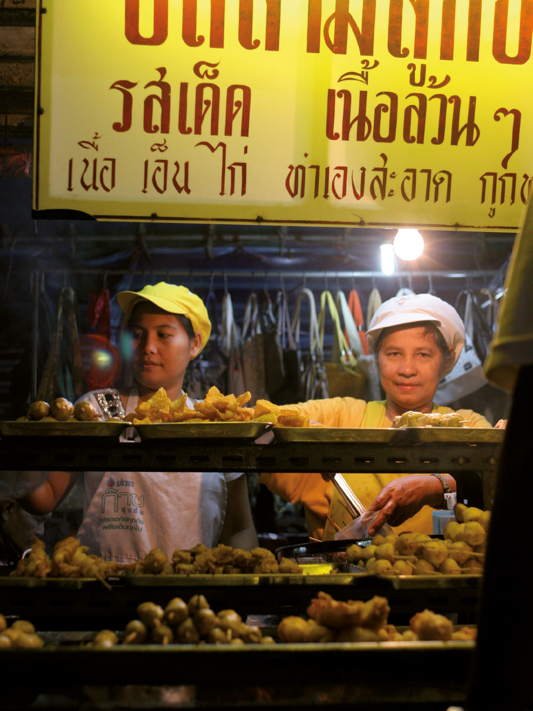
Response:
POLYGON ((504 429, 485 427, 274 427, 278 442, 368 442, 421 444, 422 442, 502 442, 504 429))

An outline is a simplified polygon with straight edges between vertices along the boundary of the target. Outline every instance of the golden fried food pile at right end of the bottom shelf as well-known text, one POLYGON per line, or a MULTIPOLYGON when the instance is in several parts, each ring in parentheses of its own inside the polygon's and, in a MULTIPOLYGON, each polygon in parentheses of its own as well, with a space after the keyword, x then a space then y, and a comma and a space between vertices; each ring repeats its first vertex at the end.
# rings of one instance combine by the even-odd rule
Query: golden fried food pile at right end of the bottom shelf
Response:
POLYGON ((289 616, 278 625, 281 642, 402 642, 419 640, 475 640, 477 630, 463 627, 454 631, 451 621, 431 610, 411 617, 410 629, 399 632, 387 624, 387 598, 377 595, 367 602, 340 602, 319 592, 307 608, 309 619, 289 616))

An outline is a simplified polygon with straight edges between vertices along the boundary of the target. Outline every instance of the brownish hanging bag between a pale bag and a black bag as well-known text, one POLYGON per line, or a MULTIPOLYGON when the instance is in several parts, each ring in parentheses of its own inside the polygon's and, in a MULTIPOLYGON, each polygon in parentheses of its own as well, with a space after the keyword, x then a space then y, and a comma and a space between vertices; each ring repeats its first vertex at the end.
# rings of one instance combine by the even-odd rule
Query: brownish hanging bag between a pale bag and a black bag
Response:
POLYGON ((252 393, 250 399, 250 407, 252 407, 257 400, 268 400, 264 385, 264 337, 259 322, 259 306, 255 292, 249 295, 244 308, 241 353, 244 389, 252 393))

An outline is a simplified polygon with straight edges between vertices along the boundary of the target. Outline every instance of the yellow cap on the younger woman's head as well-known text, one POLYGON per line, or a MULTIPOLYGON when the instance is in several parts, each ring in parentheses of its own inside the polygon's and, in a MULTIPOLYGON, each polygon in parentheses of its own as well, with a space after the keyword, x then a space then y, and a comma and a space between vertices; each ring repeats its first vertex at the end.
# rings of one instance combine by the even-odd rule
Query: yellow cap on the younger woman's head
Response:
POLYGON ((140 292, 119 292, 117 294, 119 306, 126 314, 126 321, 129 321, 134 306, 139 301, 151 301, 168 314, 182 314, 187 316, 193 324, 194 332, 202 336, 202 348, 209 340, 211 333, 211 321, 208 316, 208 309, 205 308, 200 296, 196 296, 187 287, 176 287, 176 284, 166 284, 159 282, 154 287, 146 284, 140 292))

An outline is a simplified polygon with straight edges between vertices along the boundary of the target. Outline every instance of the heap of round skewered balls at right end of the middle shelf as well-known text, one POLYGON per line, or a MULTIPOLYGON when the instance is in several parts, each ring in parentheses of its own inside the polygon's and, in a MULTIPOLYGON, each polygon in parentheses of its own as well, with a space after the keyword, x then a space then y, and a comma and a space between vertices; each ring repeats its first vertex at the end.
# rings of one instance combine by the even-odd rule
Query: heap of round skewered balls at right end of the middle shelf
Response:
POLYGON ((444 540, 410 531, 378 534, 367 547, 350 545, 346 560, 379 575, 481 574, 490 511, 458 503, 453 512, 457 520, 446 524, 444 540))

